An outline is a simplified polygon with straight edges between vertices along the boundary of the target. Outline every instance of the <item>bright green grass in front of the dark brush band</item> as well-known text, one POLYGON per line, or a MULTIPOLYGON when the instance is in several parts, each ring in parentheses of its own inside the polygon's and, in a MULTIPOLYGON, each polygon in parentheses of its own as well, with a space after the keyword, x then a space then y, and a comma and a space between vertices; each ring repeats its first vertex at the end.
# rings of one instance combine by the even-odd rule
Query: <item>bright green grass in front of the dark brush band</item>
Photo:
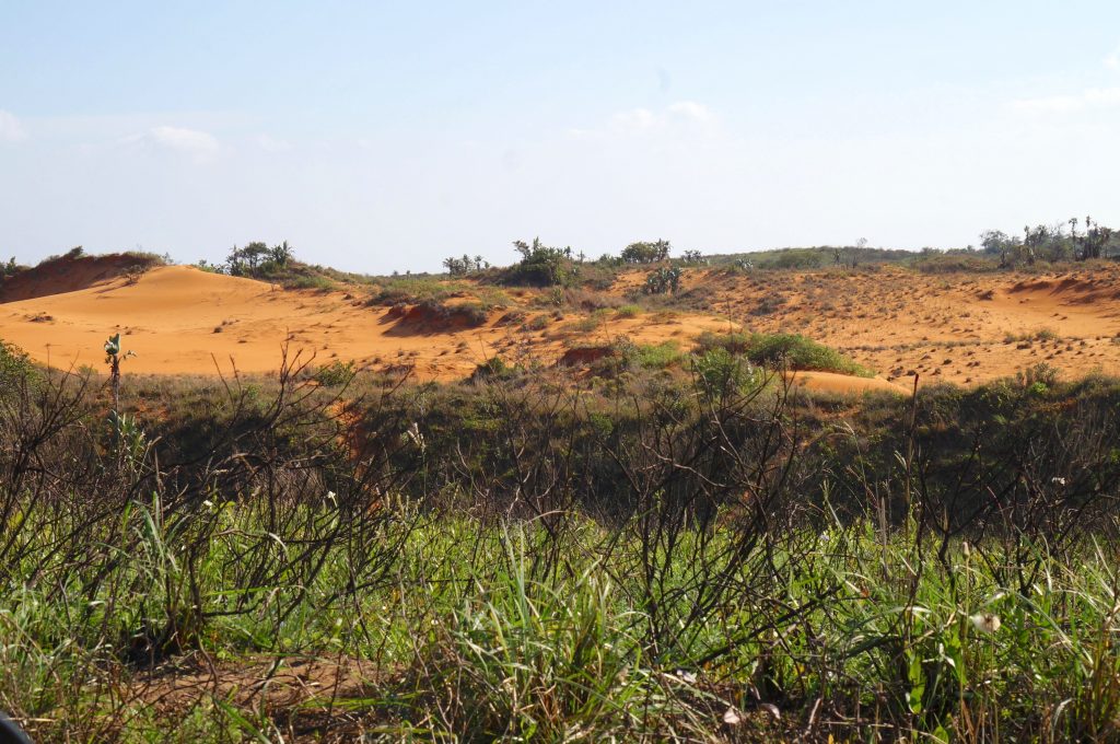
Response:
MULTIPOLYGON (((251 508, 206 509, 218 530, 200 550, 187 524, 160 520, 158 503, 127 510, 118 534, 91 546, 115 557, 88 568, 100 574, 93 592, 90 577, 44 585, 56 567, 50 533, 39 533, 0 604, 0 700, 37 736, 1118 734, 1114 547, 1086 545, 1075 566, 1032 551, 1036 580, 1020 594, 1002 587, 1015 560, 1000 551, 956 546, 939 564, 902 534, 832 526, 788 536, 795 555, 747 556, 732 580, 757 584, 747 575, 765 571, 765 594, 728 593, 696 616, 703 592, 689 545, 661 564, 672 606, 657 612, 691 625, 666 629, 628 570, 642 562, 637 548, 590 523, 556 546, 526 524, 390 522, 371 537, 396 546, 392 565, 368 586, 353 586, 352 546, 338 546, 314 576, 243 592, 231 587, 244 583, 239 556, 263 537, 260 522, 251 508), (189 627, 195 602, 209 619, 189 627), (155 664, 129 658, 136 629, 168 622, 197 632, 197 650, 155 664), (314 669, 309 658, 321 669, 305 687, 291 670, 314 669)), ((329 499, 306 514, 339 518, 329 499)), ((300 549, 274 542, 278 556, 300 549)))

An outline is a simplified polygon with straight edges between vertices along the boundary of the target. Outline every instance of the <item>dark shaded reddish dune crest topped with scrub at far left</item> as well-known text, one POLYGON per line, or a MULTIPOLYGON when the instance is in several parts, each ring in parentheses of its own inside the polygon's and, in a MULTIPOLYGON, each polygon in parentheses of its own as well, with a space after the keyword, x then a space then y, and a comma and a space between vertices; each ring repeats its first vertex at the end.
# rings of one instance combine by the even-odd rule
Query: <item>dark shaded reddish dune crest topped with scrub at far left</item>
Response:
POLYGON ((20 268, 0 277, 0 303, 77 291, 119 277, 138 278, 152 267, 162 264, 164 259, 152 253, 87 255, 78 248, 65 255, 48 258, 32 268, 20 268))

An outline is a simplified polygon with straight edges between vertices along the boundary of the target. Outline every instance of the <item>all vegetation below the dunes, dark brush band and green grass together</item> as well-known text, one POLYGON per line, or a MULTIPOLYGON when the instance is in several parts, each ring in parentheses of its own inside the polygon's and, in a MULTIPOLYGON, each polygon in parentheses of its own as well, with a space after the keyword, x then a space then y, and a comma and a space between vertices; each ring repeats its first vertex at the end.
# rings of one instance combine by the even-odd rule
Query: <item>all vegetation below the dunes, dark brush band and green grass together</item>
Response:
POLYGON ((37 741, 1120 737, 1113 388, 804 435, 734 375, 401 416, 282 374, 165 440, 0 373, 0 708, 37 741))

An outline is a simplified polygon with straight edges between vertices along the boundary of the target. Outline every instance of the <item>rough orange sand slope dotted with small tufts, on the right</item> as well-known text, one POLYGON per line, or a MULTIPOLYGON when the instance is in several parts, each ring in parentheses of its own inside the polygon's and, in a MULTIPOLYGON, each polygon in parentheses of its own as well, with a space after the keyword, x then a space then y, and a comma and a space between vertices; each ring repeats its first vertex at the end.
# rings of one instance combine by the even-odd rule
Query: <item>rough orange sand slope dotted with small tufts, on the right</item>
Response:
POLYGON ((685 275, 684 301, 752 331, 800 333, 907 388, 974 384, 1046 363, 1120 374, 1120 267, 923 275, 884 267, 685 275), (1047 338, 1028 341, 1039 332, 1047 338))

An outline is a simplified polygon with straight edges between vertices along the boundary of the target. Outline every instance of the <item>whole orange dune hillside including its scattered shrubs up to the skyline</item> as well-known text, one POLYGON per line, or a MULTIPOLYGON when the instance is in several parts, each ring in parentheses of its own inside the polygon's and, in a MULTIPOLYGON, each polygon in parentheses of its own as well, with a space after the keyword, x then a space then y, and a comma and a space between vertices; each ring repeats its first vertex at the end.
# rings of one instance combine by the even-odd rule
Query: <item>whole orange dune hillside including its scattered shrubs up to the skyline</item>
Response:
MULTIPOLYGON (((595 379, 633 360, 632 348, 660 348, 659 363, 689 374, 704 333, 799 335, 870 372, 796 368, 806 384, 837 391, 909 391, 915 375, 977 384, 1038 365, 1068 378, 1120 371, 1112 262, 997 270, 976 257, 964 258, 987 262, 969 269, 954 257, 911 254, 914 266, 904 267, 865 251, 853 253, 856 268, 581 263, 533 243, 511 269, 464 270, 465 258, 452 264, 461 276, 375 278, 306 267, 286 245, 268 250, 280 249, 282 262, 231 264, 244 276, 194 267, 114 275, 128 255, 48 261, 6 282, 29 299, 0 307, 0 338, 55 365, 96 365, 104 337, 120 332, 139 355, 132 370, 165 374, 269 372, 284 345, 320 365, 426 380, 467 379, 492 363, 561 364, 595 379)), ((775 253, 786 254, 799 253, 775 253)))

